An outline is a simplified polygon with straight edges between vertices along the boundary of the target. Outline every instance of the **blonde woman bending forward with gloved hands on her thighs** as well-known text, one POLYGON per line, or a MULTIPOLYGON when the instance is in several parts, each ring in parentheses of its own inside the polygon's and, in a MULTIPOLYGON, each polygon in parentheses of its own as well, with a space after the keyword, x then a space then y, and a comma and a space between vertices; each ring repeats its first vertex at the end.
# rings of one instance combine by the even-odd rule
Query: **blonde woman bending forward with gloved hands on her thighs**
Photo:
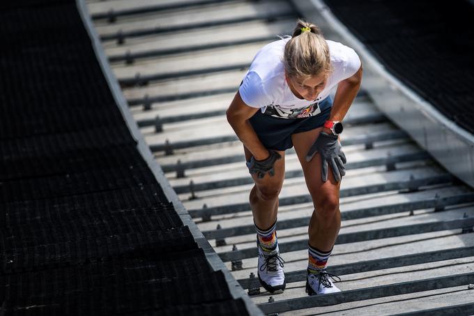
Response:
POLYGON ((257 230, 258 276, 270 293, 283 292, 286 286, 275 228, 284 152, 292 146, 314 204, 306 291, 339 292, 326 271, 341 225, 339 186, 346 158, 338 135, 361 80, 360 59, 351 48, 325 40, 316 25, 298 21, 291 38, 257 53, 227 110, 255 183, 250 206, 257 230), (329 93, 335 86, 332 101, 329 93))

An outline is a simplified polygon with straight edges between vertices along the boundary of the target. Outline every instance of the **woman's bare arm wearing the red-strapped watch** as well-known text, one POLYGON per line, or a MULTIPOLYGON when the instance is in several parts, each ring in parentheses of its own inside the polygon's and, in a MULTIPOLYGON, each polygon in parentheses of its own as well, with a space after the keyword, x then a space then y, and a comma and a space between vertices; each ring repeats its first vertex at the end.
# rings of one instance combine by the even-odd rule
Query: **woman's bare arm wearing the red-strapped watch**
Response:
MULTIPOLYGON (((362 66, 360 66, 357 73, 353 76, 339 82, 334 102, 332 103, 332 110, 329 116, 330 121, 342 121, 342 119, 344 119, 344 116, 346 116, 347 111, 349 111, 349 107, 351 107, 355 96, 357 96, 361 82, 362 66)), ((323 131, 329 134, 331 133, 329 128, 323 128, 323 131)))

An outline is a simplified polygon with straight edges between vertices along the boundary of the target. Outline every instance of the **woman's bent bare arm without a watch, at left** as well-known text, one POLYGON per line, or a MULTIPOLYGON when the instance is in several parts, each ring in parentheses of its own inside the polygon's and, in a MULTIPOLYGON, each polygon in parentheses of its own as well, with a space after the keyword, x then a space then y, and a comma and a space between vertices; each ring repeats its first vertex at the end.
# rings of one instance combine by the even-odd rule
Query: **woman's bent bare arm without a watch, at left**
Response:
POLYGON ((260 109, 246 105, 240 98, 240 93, 237 92, 226 114, 227 121, 229 121, 240 141, 250 150, 254 159, 263 160, 268 158, 268 150, 260 142, 254 128, 248 121, 257 111, 260 111, 260 109))

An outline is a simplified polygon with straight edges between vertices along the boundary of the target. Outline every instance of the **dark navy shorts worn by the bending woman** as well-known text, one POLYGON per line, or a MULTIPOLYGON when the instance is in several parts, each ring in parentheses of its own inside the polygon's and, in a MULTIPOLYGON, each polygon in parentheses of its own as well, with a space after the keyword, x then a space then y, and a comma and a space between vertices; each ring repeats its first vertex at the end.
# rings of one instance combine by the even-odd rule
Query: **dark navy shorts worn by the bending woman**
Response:
POLYGON ((284 151, 293 147, 291 135, 319 128, 328 120, 332 108, 331 98, 324 99, 320 106, 321 113, 304 119, 281 119, 257 111, 249 121, 266 149, 284 151))

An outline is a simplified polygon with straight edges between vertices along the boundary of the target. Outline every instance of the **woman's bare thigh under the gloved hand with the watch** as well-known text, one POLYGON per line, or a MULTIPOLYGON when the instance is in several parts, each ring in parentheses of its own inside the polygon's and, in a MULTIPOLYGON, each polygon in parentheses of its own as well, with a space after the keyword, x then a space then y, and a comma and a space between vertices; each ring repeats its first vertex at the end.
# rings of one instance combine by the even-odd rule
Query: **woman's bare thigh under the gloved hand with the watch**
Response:
POLYGON ((340 182, 335 181, 330 166, 328 167, 328 181, 323 182, 321 180, 321 156, 319 154, 316 153, 311 161, 306 161, 306 154, 321 130, 322 127, 291 135, 298 160, 300 160, 301 167, 303 167, 307 188, 315 204, 327 200, 328 197, 339 199, 340 187, 340 182))

